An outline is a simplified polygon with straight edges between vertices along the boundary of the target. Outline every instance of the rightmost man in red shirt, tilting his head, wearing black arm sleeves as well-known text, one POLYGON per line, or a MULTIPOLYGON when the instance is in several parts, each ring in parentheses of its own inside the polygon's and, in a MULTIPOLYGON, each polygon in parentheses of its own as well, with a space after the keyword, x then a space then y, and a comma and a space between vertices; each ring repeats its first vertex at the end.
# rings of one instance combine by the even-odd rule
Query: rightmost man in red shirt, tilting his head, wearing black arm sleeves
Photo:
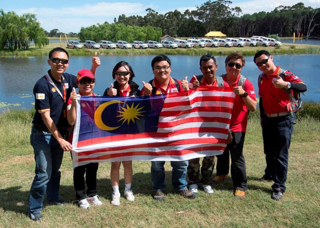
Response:
POLYGON ((259 70, 263 72, 259 87, 260 124, 262 127, 263 149, 266 155, 265 174, 259 181, 274 181, 271 198, 280 200, 286 190, 288 154, 292 135, 292 109, 290 98, 283 89, 291 92, 305 92, 303 81, 290 71, 280 77, 279 66, 273 63, 273 57, 266 50, 259 51, 253 58, 259 70), (290 112, 291 111, 291 112, 290 112))

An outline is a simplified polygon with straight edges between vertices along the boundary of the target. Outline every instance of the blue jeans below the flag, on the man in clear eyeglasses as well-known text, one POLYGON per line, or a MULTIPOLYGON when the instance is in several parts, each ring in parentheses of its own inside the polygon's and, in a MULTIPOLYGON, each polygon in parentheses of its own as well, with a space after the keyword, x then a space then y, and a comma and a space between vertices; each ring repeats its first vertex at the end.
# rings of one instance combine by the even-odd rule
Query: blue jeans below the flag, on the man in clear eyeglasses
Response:
MULTIPOLYGON (((151 162, 151 180, 153 182, 154 191, 164 191, 164 163, 165 161, 151 162)), ((187 188, 186 174, 188 168, 188 160, 186 161, 171 161, 172 167, 172 186, 175 191, 181 191, 187 188)))

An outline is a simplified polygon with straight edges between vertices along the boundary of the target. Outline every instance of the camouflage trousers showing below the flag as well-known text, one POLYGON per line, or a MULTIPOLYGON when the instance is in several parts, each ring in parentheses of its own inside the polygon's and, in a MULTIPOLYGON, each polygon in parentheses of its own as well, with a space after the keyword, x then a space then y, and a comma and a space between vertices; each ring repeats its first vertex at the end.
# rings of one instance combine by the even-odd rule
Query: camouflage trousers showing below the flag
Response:
POLYGON ((196 184, 201 183, 203 185, 211 184, 211 176, 214 168, 214 157, 215 156, 207 156, 204 157, 202 160, 202 167, 201 167, 201 180, 199 179, 200 176, 200 158, 194 158, 189 160, 188 165, 188 178, 189 184, 196 184))

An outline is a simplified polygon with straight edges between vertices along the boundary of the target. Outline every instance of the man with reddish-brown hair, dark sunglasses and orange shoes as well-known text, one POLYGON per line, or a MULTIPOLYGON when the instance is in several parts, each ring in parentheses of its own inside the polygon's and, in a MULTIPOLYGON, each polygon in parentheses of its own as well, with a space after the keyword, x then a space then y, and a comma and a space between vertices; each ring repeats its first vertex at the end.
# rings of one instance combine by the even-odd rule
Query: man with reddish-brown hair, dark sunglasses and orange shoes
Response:
POLYGON ((222 155, 217 156, 217 173, 212 179, 219 183, 227 178, 229 173, 229 157, 231 157, 231 179, 233 182, 233 195, 244 197, 247 189, 246 166, 243 155, 243 145, 248 122, 249 111, 255 111, 256 96, 252 83, 240 74, 245 65, 244 56, 240 53, 231 53, 225 60, 226 74, 220 76, 225 80, 236 94, 230 121, 229 136, 232 141, 227 145, 222 155), (230 156, 229 156, 230 154, 230 156))

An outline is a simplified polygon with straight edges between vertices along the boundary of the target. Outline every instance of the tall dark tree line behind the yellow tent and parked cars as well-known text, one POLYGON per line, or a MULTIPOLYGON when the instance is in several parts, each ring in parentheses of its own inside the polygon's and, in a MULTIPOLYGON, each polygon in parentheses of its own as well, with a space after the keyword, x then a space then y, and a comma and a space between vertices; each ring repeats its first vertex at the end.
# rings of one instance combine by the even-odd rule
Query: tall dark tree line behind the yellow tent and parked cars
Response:
POLYGON ((305 7, 303 3, 279 6, 271 12, 242 15, 239 7, 230 8, 231 1, 207 1, 196 10, 178 10, 159 14, 151 8, 146 16, 120 15, 114 23, 130 26, 160 27, 162 35, 173 37, 204 36, 209 31, 221 31, 230 37, 279 34, 280 37, 303 33, 304 36, 320 34, 319 8, 305 7))

